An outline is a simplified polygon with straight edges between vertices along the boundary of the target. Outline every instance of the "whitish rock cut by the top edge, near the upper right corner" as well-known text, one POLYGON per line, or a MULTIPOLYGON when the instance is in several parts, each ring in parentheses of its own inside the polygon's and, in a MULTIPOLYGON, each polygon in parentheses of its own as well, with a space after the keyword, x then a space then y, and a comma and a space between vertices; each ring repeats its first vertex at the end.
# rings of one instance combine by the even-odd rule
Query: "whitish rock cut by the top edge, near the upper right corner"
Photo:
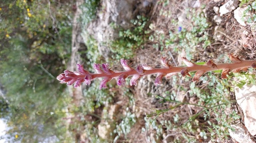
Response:
POLYGON ((239 0, 230 0, 219 8, 219 16, 232 12, 238 7, 239 0))

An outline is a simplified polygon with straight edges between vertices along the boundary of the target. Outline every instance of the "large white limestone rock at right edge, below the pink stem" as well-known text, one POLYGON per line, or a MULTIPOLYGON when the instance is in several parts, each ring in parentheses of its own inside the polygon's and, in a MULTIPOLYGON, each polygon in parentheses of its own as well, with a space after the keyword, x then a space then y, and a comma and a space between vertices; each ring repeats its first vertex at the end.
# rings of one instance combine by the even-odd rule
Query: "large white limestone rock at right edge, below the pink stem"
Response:
POLYGON ((244 113, 244 124, 252 136, 256 135, 256 85, 235 87, 237 104, 244 113))

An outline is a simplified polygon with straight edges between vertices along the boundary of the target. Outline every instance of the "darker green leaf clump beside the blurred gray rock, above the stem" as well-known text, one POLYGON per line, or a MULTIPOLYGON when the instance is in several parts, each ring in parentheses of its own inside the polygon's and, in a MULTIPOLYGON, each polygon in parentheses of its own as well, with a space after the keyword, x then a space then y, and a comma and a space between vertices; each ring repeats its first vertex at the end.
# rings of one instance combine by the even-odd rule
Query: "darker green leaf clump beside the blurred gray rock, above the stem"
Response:
POLYGON ((134 24, 133 29, 119 31, 119 38, 109 44, 111 52, 114 53, 113 59, 132 58, 135 49, 144 47, 143 44, 149 34, 145 27, 148 20, 144 16, 137 16, 137 19, 131 20, 134 24))

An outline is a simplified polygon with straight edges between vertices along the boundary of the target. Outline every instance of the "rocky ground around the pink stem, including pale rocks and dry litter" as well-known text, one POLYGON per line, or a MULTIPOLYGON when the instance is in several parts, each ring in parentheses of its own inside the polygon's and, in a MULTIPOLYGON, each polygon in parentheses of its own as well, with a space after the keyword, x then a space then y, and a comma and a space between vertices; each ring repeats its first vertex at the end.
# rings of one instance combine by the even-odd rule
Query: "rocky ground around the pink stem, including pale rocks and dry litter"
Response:
MULTIPOLYGON (((246 23, 241 20, 241 13, 243 13, 244 8, 239 7, 238 0, 179 0, 172 1, 164 6, 164 2, 156 0, 102 0, 101 9, 97 13, 96 20, 92 21, 88 27, 87 32, 94 36, 98 43, 107 42, 107 40, 113 40, 118 37, 118 30, 113 30, 110 26, 111 22, 121 25, 122 28, 128 29, 132 27, 130 20, 135 18, 137 15, 144 15, 148 17, 149 22, 152 23, 153 29, 152 33, 155 31, 160 31, 165 37, 169 37, 169 31, 175 31, 178 27, 172 24, 172 20, 178 20, 178 25, 182 25, 184 29, 190 29, 190 20, 187 15, 191 14, 192 11, 187 11, 187 9, 195 9, 195 11, 203 11, 204 17, 207 18, 207 22, 210 26, 207 33, 210 37, 214 38, 214 43, 210 44, 206 49, 201 46, 197 47, 197 50, 193 53, 193 58, 198 61, 207 61, 209 59, 217 60, 221 54, 234 53, 236 55, 241 55, 244 59, 255 59, 255 23, 246 23), (200 9, 201 6, 205 5, 205 8, 200 9), (167 15, 163 13, 167 12, 167 15)), ((77 1, 77 5, 81 2, 77 1)), ((78 7, 78 6, 77 6, 78 7)), ((79 9, 76 11, 76 16, 79 17, 81 12, 79 9)), ((248 13, 250 15, 250 13, 248 13)), ((246 19, 245 19, 246 20, 246 19)), ((73 28, 73 38, 72 38, 72 57, 69 69, 75 71, 76 63, 82 63, 80 54, 78 51, 82 51, 86 46, 83 44, 83 37, 80 36, 81 31, 79 24, 74 21, 73 28)), ((177 30, 176 30, 177 31, 177 30)), ((159 67, 160 56, 168 56, 169 59, 173 58, 170 62, 172 64, 181 65, 181 56, 186 56, 185 51, 181 51, 180 54, 175 54, 172 48, 164 48, 160 51, 154 48, 152 45, 155 41, 147 41, 144 43, 144 48, 138 48, 136 50, 136 55, 131 59, 135 65, 147 63, 152 67, 159 67), (171 54, 172 53, 172 54, 171 54)), ((103 58, 108 60, 111 56, 110 50, 105 46, 99 44, 99 53, 103 58)), ((223 62, 219 60, 218 62, 223 62)), ((192 138, 197 138, 196 134, 189 134, 186 130, 169 130, 164 128, 162 130, 160 138, 157 138, 156 128, 147 128, 146 121, 144 120, 146 114, 154 113, 155 110, 163 110, 175 106, 175 103, 167 102, 160 103, 159 99, 155 98, 154 95, 163 95, 166 91, 177 93, 180 101, 186 101, 189 103, 197 104, 197 98, 189 95, 188 92, 177 88, 176 84, 182 85, 184 88, 190 87, 191 82, 184 81, 184 78, 176 79, 177 82, 173 82, 173 79, 163 79, 163 84, 160 86, 154 85, 154 76, 144 76, 138 81, 138 86, 131 88, 130 92, 133 94, 134 106, 130 107, 128 110, 131 113, 135 113, 137 122, 130 129, 131 132, 125 137, 120 136, 117 142, 168 142, 172 141, 174 138, 181 138, 184 134, 191 136, 192 138), (146 129, 145 131, 142 131, 146 129), (129 141, 128 141, 129 140, 129 141)), ((238 79, 239 80, 239 79, 238 79)), ((199 85, 199 83, 197 83, 199 85)), ((203 87, 203 85, 201 86, 203 87)), ((85 89, 82 86, 77 89, 71 89, 70 94, 73 97, 73 102, 76 106, 79 106, 80 101, 83 100, 82 90, 85 89)), ((245 85, 242 89, 235 88, 235 93, 231 93, 230 98, 236 99, 237 104, 233 104, 229 112, 235 111, 240 113, 242 117, 241 120, 234 121, 232 127, 235 131, 229 131, 230 136, 225 140, 219 140, 216 138, 216 142, 255 142, 255 122, 256 117, 253 115, 255 113, 255 100, 256 100, 256 87, 245 85), (254 90, 253 90, 254 89, 254 90)), ((114 98, 114 103, 108 105, 108 113, 110 115, 110 122, 114 121, 116 116, 121 116, 127 109, 123 109, 122 106, 127 105, 129 102, 128 97, 122 96, 123 88, 110 89, 117 90, 114 98)), ((184 124, 189 120, 192 111, 200 110, 198 107, 190 106, 180 106, 175 110, 169 110, 164 114, 161 114, 156 118, 156 123, 160 123, 164 120, 174 121, 174 116, 176 114, 181 117, 179 125, 184 124)), ((101 112, 98 112, 101 113, 101 112)), ((98 115, 101 116, 101 115, 98 115)), ((204 123, 203 118, 198 118, 198 121, 204 123)), ((113 132, 115 126, 111 126, 109 121, 101 120, 100 124, 97 126, 99 130, 99 136, 102 138, 109 138, 110 132, 113 132)), ((203 130, 203 127, 201 127, 203 130)), ((79 133, 78 138, 81 142, 86 142, 83 135, 79 133)), ((82 134, 82 133, 80 133, 82 134)), ((198 137, 198 142, 212 142, 209 139, 204 139, 198 137)))

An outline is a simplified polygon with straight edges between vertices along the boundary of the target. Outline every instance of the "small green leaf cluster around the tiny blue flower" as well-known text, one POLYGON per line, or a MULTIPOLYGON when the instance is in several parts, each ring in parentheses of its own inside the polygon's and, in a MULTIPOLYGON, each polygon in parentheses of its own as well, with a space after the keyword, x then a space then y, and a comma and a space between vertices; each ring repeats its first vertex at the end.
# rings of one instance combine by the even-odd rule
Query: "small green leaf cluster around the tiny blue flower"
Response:
MULTIPOLYGON (((189 12, 189 9, 187 9, 187 11, 189 12)), ((163 15, 164 14, 165 12, 163 12, 163 15)), ((192 15, 188 18, 192 21, 190 23, 191 30, 184 28, 183 25, 178 25, 178 22, 173 19, 172 23, 177 29, 175 31, 169 31, 169 38, 166 38, 164 33, 160 31, 155 31, 155 33, 149 37, 149 40, 153 42, 157 41, 153 47, 157 50, 160 48, 161 51, 164 48, 168 49, 172 47, 174 52, 178 54, 182 51, 181 49, 185 49, 187 58, 192 58, 192 55, 189 53, 193 53, 198 44, 201 44, 204 49, 209 46, 211 40, 206 32, 206 29, 209 28, 209 24, 204 17, 204 13, 196 12, 193 9, 192 15)))

